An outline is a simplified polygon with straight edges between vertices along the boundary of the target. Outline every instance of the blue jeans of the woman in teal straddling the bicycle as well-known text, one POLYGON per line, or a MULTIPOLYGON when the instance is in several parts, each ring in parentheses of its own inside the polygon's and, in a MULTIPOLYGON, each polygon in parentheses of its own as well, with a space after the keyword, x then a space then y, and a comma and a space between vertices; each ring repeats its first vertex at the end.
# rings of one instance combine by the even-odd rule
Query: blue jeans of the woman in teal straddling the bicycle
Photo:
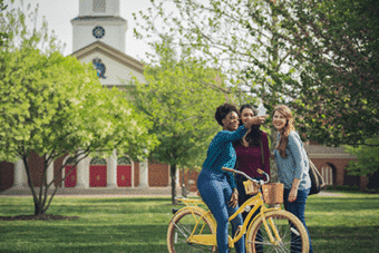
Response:
MULTIPOLYGON (((229 217, 237 211, 239 206, 232 208, 227 205, 233 191, 226 179, 226 175, 210 168, 203 168, 197 177, 197 189, 217 222, 216 239, 218 253, 227 253, 229 217)), ((239 226, 243 223, 241 214, 231 223, 234 235, 239 226)), ((245 252, 244 236, 235 243, 235 251, 237 253, 245 252)))

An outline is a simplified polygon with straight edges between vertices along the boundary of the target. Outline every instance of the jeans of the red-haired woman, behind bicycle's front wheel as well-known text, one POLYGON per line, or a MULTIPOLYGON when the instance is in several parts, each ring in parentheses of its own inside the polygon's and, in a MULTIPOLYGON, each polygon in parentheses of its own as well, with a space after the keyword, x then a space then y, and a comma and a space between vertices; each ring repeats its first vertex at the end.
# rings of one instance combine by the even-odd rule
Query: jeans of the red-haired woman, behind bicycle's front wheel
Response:
MULTIPOLYGON (((311 236, 309 235, 308 227, 305 225, 305 217, 304 217, 305 202, 308 198, 309 191, 310 188, 299 189, 297 200, 294 202, 289 202, 290 189, 284 188, 284 208, 289 211, 290 213, 294 214, 303 223, 307 230, 307 233, 308 233, 308 237, 309 237, 309 253, 313 253, 311 236)), ((300 251, 295 251, 291 246, 291 252, 300 252, 300 251)))

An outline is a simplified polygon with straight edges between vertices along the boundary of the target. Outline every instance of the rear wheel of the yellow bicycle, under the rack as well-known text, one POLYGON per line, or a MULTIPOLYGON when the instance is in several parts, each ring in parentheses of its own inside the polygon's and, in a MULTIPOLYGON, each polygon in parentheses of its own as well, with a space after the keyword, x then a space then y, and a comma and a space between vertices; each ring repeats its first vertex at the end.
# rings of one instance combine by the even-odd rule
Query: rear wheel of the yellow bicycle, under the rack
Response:
MULTIPOLYGON (((197 220, 203 215, 203 212, 200 210, 194 208, 192 211, 197 220)), ((183 210, 175 214, 167 230, 167 247, 169 253, 217 252, 216 246, 187 243, 187 239, 195 225, 196 221, 191 210, 183 210)), ((216 227, 213 227, 211 221, 204 216, 200 221, 194 235, 215 233, 216 227)))

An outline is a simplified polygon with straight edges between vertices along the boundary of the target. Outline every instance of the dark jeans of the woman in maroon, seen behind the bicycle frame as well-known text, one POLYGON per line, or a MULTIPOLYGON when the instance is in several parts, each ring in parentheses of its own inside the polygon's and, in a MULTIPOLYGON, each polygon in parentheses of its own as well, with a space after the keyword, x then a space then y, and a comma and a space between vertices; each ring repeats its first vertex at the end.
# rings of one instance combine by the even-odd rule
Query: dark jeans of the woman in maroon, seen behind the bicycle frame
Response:
MULTIPOLYGON (((253 177, 256 181, 263 179, 263 177, 253 177)), ((246 181, 244 176, 241 175, 236 175, 235 176, 235 183, 239 189, 239 205, 243 205, 243 203, 245 203, 245 201, 247 201, 249 198, 253 197, 254 195, 247 195, 245 192, 245 187, 243 186, 243 182, 246 181)), ((259 207, 255 213, 253 214, 253 216, 251 217, 251 220, 249 221, 247 227, 250 226, 250 224, 252 223, 252 221, 254 220, 254 217, 261 212, 261 207, 259 207)), ((246 220, 249 213, 243 212, 242 213, 242 218, 243 221, 246 220)), ((256 242, 262 242, 262 233, 261 230, 257 231, 256 234, 256 242)), ((262 244, 255 244, 255 251, 257 253, 263 252, 263 245, 262 244)))

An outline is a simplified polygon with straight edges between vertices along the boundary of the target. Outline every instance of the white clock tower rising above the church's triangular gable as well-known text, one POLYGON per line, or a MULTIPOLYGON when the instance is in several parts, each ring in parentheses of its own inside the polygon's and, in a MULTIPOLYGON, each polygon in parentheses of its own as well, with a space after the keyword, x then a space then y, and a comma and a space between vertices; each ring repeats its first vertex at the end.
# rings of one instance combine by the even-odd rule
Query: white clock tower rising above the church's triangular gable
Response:
POLYGON ((125 52, 127 21, 119 17, 119 0, 79 0, 71 23, 74 52, 97 40, 125 52))

